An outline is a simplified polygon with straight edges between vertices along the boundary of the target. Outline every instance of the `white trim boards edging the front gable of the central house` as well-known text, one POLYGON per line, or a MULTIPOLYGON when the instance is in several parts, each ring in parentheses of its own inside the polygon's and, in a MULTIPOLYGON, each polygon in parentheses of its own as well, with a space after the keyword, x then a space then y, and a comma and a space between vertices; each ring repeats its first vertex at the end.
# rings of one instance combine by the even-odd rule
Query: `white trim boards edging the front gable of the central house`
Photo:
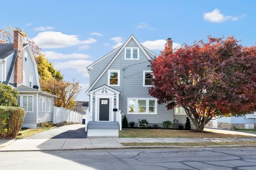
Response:
MULTIPOLYGON (((122 50, 124 49, 124 47, 127 45, 127 43, 129 43, 129 41, 133 39, 135 41, 135 43, 139 46, 139 48, 142 50, 142 52, 145 54, 145 56, 148 58, 149 61, 152 60, 152 58, 148 55, 148 53, 146 52, 145 48, 142 47, 142 45, 139 43, 139 41, 134 37, 134 35, 131 35, 126 41, 125 43, 122 45, 122 47, 118 50, 118 52, 116 53, 116 55, 114 56, 114 58, 112 58, 112 60, 108 63, 108 65, 105 67, 105 69, 100 73, 100 75, 98 76, 98 78, 91 84, 91 86, 89 87, 89 89, 86 90, 86 93, 89 92, 92 87, 99 81, 99 79, 102 77, 102 75, 108 70, 109 66, 116 60, 116 57, 122 52, 122 50)), ((119 48, 119 47, 118 47, 119 48)))

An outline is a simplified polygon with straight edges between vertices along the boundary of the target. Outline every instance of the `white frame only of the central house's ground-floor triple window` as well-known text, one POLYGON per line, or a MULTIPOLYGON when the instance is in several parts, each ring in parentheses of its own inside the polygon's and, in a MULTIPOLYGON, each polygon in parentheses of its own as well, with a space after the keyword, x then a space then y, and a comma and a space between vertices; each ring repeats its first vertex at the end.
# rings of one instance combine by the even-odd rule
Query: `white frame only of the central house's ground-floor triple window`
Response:
POLYGON ((157 99, 155 98, 127 98, 127 114, 130 115, 157 115, 157 99), (129 100, 135 100, 135 112, 129 112, 129 100), (138 100, 146 100, 146 112, 138 111, 138 100), (149 100, 155 100, 155 112, 149 113, 149 100))

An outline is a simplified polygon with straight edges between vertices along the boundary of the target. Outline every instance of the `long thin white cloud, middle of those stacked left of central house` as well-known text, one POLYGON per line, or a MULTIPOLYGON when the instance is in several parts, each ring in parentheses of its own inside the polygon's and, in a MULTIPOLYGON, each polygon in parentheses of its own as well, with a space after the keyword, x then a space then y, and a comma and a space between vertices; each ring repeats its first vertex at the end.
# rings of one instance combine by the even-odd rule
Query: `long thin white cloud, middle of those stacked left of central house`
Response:
POLYGON ((71 53, 71 54, 62 54, 53 51, 44 52, 45 56, 49 60, 63 60, 63 59, 86 59, 90 58, 90 55, 87 54, 79 54, 79 53, 71 53))

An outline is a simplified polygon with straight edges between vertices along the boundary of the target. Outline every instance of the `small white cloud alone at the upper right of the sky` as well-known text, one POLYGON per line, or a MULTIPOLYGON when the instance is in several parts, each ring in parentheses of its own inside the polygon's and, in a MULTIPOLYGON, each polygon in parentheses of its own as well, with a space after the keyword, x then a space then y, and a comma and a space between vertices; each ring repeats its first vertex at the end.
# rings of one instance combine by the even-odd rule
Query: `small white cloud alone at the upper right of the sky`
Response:
POLYGON ((229 15, 223 15, 220 10, 215 8, 212 12, 207 12, 204 14, 204 20, 209 21, 209 22, 225 22, 228 20, 231 21, 237 21, 239 20, 238 17, 233 17, 229 15))

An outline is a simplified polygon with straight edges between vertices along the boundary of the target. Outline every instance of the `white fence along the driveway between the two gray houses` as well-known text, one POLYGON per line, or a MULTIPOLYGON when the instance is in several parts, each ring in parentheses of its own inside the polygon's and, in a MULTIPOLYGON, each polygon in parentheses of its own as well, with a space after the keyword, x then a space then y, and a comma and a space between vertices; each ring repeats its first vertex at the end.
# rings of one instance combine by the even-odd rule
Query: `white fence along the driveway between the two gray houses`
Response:
POLYGON ((85 114, 71 111, 63 107, 53 108, 53 124, 61 122, 82 123, 83 118, 85 118, 85 114))

